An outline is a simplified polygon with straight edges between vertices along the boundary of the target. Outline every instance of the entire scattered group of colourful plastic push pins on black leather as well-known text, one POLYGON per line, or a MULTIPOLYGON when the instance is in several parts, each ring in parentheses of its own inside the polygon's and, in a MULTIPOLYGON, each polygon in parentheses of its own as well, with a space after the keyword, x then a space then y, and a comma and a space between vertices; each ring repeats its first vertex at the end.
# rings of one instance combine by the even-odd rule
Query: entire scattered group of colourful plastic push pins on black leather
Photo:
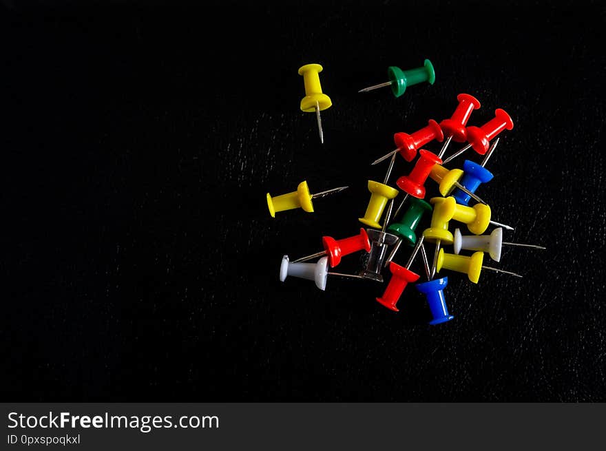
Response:
MULTIPOLYGON (((320 76, 322 66, 319 64, 308 64, 300 67, 299 74, 303 76, 305 85, 305 97, 301 101, 301 109, 304 112, 315 112, 317 125, 320 132, 320 140, 324 142, 322 133, 322 122, 320 111, 331 107, 331 99, 322 93, 320 76)), ((390 86, 394 96, 399 97, 406 91, 406 87, 418 83, 435 82, 435 72, 429 60, 424 61, 422 67, 412 70, 401 70, 398 67, 388 68, 389 81, 367 87, 360 92, 368 92, 379 87, 390 86)), ((467 126, 468 120, 474 111, 479 109, 480 103, 469 94, 457 96, 459 105, 454 109, 450 118, 437 123, 429 120, 428 125, 411 134, 396 133, 393 138, 396 149, 389 154, 375 160, 376 165, 384 160, 389 160, 389 166, 383 182, 368 180, 368 191, 370 201, 366 207, 364 217, 359 222, 366 225, 367 229, 359 229, 357 235, 335 240, 330 236, 322 237, 323 251, 290 261, 288 255, 282 258, 280 265, 280 280, 284 282, 286 277, 300 277, 313 280, 316 286, 326 289, 328 275, 342 277, 354 277, 359 279, 384 282, 383 272, 388 268, 391 274, 390 280, 384 289, 384 293, 377 297, 377 302, 392 311, 398 311, 397 303, 404 289, 409 283, 419 280, 419 275, 410 271, 412 262, 417 255, 422 256, 426 272, 427 282, 417 283, 417 290, 426 296, 432 313, 430 324, 440 324, 453 318, 448 313, 446 295, 444 290, 448 284, 448 277, 435 278, 436 273, 443 270, 465 273, 470 282, 477 284, 481 271, 488 269, 522 277, 519 274, 503 269, 497 269, 483 264, 484 253, 488 253, 495 262, 501 261, 501 247, 513 245, 532 247, 534 249, 545 249, 534 244, 519 244, 503 241, 503 229, 513 230, 505 224, 492 220, 490 207, 484 200, 477 196, 481 184, 490 182, 493 174, 485 168, 488 159, 499 144, 497 136, 503 130, 511 130, 513 122, 509 114, 503 109, 494 112, 494 118, 490 119, 481 127, 467 126), (425 147, 432 141, 443 143, 437 154, 432 153, 425 147), (455 143, 467 143, 462 149, 454 152, 446 159, 442 159, 448 145, 455 143), (447 169, 444 167, 448 162, 463 154, 464 151, 473 149, 483 156, 478 164, 470 160, 463 162, 463 169, 447 169), (414 167, 408 175, 401 176, 396 180, 397 187, 404 191, 404 198, 399 202, 392 216, 395 199, 399 190, 388 185, 393 169, 395 158, 400 155, 407 162, 417 158, 414 167), (426 180, 431 178, 437 183, 437 190, 441 196, 432 197, 426 202, 426 180), (474 202, 470 205, 470 202, 474 202), (381 223, 381 218, 385 218, 381 223), (399 216, 400 211, 403 211, 399 216), (424 216, 430 215, 430 224, 423 233, 417 236, 417 227, 424 216), (392 219, 395 219, 391 221, 392 219), (471 235, 463 235, 459 228, 451 230, 451 222, 465 224, 471 235), (488 227, 496 226, 490 234, 486 234, 488 227), (433 262, 430 266, 425 251, 425 242, 435 244, 433 262), (412 248, 405 266, 400 266, 393 259, 397 255, 401 244, 412 248), (444 246, 452 245, 452 253, 444 251, 444 246), (368 253, 365 267, 357 274, 342 274, 328 271, 328 267, 338 266, 342 258, 357 252, 368 253), (471 255, 462 255, 461 251, 472 251, 471 255), (306 263, 309 260, 319 259, 315 263, 306 263)), ((347 187, 339 187, 312 194, 307 183, 301 182, 297 191, 282 194, 282 196, 270 196, 267 193, 267 204, 272 217, 278 211, 290 209, 303 209, 313 212, 312 200, 322 198, 328 194, 342 191, 347 187)))

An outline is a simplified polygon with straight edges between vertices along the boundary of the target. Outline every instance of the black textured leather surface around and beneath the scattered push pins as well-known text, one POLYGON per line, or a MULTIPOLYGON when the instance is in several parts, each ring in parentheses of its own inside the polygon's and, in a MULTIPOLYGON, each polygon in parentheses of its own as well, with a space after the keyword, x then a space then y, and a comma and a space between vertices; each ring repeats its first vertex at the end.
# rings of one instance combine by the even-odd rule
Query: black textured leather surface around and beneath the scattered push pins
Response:
POLYGON ((5 401, 606 399, 600 2, 74 3, 0 7, 5 401), (435 85, 357 94, 424 58, 435 85), (282 254, 357 232, 392 134, 460 92, 470 125, 514 120, 479 194, 548 248, 486 259, 524 278, 448 273, 433 327, 412 287, 396 314, 376 282, 281 283, 282 254), (265 193, 302 180, 350 189, 272 219, 265 193))

